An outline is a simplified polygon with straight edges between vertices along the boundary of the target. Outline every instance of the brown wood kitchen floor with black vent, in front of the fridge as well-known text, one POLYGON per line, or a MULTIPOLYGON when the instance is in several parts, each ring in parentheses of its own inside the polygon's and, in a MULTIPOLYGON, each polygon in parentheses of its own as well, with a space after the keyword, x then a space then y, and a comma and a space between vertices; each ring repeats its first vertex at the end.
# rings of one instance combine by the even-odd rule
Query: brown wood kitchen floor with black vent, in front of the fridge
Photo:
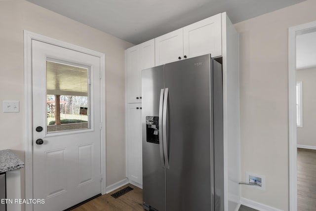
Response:
MULTIPOLYGON (((144 211, 142 207, 143 203, 143 191, 142 189, 132 185, 127 184, 117 190, 99 196, 87 202, 80 207, 74 209, 73 211, 144 211), (130 186, 134 188, 134 190, 125 193, 124 195, 118 197, 117 199, 113 198, 111 194, 125 188, 126 186, 130 186)), ((238 211, 256 211, 254 209, 248 208, 246 206, 241 205, 238 211)))

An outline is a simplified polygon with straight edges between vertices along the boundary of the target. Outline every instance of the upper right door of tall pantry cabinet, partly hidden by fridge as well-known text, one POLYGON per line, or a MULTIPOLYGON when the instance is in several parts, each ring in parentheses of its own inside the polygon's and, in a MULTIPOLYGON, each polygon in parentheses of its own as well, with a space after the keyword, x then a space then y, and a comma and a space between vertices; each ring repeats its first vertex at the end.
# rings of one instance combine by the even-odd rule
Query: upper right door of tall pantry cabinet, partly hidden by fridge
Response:
POLYGON ((140 69, 155 67, 155 39, 139 44, 140 69))

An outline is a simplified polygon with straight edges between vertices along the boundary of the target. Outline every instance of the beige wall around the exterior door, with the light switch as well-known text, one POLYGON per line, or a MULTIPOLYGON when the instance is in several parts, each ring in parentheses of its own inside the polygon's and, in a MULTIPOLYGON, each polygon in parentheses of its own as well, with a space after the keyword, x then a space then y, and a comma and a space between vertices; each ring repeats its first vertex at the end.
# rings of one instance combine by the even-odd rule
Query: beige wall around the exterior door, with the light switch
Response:
MULTIPOLYGON (((25 0, 0 1, 0 150, 13 149, 24 161, 23 30, 106 54, 107 185, 124 179, 124 50, 132 44, 25 0), (20 101, 20 113, 2 113, 3 100, 20 101)), ((24 173, 21 180, 24 195, 24 173)))

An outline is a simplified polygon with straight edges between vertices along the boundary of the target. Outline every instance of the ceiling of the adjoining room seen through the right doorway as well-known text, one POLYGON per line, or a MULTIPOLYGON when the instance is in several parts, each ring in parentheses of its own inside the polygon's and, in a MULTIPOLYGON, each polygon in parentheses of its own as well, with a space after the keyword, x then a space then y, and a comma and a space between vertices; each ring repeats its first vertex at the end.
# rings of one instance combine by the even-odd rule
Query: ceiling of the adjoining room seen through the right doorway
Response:
POLYGON ((296 69, 316 67, 316 28, 303 30, 296 36, 296 69))

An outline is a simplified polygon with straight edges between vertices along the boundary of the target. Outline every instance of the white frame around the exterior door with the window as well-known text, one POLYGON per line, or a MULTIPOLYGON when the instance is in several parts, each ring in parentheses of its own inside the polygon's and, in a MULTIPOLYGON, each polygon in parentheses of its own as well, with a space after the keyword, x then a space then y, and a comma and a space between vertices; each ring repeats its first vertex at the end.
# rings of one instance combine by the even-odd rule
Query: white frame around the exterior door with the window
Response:
MULTIPOLYGON (((60 47, 76 50, 82 53, 93 55, 100 58, 101 76, 100 80, 100 99, 101 99, 101 194, 106 193, 106 97, 105 97, 105 54, 42 36, 24 30, 24 134, 25 134, 25 198, 33 199, 33 136, 32 136, 32 40, 46 42, 60 47)), ((26 211, 33 211, 33 206, 26 205, 26 211)))

